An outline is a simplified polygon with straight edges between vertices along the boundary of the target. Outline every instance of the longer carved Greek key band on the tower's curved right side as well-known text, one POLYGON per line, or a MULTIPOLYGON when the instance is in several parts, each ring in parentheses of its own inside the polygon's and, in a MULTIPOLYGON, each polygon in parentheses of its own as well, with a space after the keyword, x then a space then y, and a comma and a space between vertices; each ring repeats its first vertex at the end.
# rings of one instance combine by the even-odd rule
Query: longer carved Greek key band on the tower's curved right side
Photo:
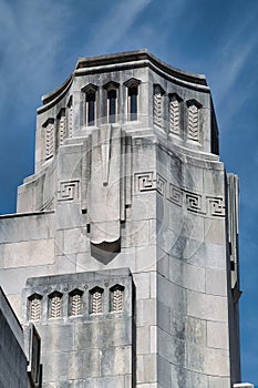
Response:
POLYGON ((204 216, 225 217, 225 202, 223 196, 208 196, 178 187, 167 182, 161 174, 154 172, 136 173, 134 175, 135 192, 145 193, 156 191, 169 202, 190 213, 204 216))

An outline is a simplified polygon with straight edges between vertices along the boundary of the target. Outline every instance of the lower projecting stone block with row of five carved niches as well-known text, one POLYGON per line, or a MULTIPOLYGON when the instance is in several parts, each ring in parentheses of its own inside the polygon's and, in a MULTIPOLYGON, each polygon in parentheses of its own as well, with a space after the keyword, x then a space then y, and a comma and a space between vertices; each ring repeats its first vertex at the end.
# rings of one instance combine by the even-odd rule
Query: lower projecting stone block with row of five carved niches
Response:
POLYGON ((126 269, 28 279, 24 326, 41 336, 43 388, 134 385, 133 287, 126 269))

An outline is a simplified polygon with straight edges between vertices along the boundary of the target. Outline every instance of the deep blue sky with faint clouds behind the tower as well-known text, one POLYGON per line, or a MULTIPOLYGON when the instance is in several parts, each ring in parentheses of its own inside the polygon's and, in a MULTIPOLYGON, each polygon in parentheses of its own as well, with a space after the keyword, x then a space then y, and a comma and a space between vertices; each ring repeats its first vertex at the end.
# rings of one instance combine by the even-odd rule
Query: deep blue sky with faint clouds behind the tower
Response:
POLYGON ((242 379, 258 385, 258 1, 0 0, 0 214, 33 172, 35 109, 79 57, 148 49, 205 73, 220 157, 240 176, 242 379))

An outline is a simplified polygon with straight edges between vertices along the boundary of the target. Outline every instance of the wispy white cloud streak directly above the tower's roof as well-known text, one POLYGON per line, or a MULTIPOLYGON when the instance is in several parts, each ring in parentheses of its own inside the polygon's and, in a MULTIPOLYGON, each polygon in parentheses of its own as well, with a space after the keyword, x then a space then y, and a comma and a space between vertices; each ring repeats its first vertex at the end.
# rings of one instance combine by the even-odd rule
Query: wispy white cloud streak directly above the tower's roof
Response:
POLYGON ((152 0, 122 0, 115 3, 105 19, 99 21, 97 31, 91 41, 93 51, 100 47, 102 52, 112 50, 151 2, 152 0))

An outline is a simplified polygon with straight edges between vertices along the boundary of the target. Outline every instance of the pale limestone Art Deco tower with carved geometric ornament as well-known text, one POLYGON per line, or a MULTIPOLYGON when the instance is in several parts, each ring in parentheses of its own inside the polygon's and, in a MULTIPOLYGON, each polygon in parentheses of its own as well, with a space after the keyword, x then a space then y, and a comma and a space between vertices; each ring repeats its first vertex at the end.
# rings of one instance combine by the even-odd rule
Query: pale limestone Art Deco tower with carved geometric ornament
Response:
POLYGON ((239 382, 238 177, 205 76, 146 50, 80 59, 38 109, 0 258, 43 388, 239 382))

